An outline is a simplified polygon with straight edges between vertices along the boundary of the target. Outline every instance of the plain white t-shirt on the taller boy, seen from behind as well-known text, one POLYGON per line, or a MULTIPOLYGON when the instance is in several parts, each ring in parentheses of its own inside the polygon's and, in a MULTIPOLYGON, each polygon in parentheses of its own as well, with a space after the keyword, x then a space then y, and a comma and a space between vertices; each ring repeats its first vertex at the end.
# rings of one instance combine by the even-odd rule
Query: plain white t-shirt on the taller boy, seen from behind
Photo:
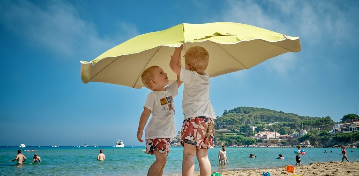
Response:
POLYGON ((200 116, 216 119, 216 114, 209 101, 208 73, 204 72, 204 75, 200 75, 181 67, 180 80, 184 84, 182 109, 185 119, 200 116))

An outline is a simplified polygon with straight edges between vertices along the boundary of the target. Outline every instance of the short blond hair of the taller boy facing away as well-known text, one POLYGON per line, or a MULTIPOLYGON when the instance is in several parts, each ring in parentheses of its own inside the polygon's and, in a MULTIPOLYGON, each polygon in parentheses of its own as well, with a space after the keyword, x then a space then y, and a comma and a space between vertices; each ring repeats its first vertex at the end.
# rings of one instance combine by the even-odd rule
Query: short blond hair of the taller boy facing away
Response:
POLYGON ((209 62, 209 54, 203 47, 191 47, 185 54, 185 63, 191 65, 194 70, 206 70, 209 62))

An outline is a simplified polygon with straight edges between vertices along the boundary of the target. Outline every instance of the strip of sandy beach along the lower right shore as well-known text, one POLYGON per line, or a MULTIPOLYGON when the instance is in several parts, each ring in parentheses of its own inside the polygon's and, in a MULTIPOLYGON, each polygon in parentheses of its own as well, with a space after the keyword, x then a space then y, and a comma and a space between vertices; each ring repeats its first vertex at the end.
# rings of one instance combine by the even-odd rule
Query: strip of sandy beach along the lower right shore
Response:
POLYGON ((242 171, 217 172, 222 176, 262 176, 262 172, 270 172, 271 176, 359 176, 358 162, 315 162, 310 165, 295 167, 294 173, 287 173, 285 167, 274 169, 256 169, 242 171))

